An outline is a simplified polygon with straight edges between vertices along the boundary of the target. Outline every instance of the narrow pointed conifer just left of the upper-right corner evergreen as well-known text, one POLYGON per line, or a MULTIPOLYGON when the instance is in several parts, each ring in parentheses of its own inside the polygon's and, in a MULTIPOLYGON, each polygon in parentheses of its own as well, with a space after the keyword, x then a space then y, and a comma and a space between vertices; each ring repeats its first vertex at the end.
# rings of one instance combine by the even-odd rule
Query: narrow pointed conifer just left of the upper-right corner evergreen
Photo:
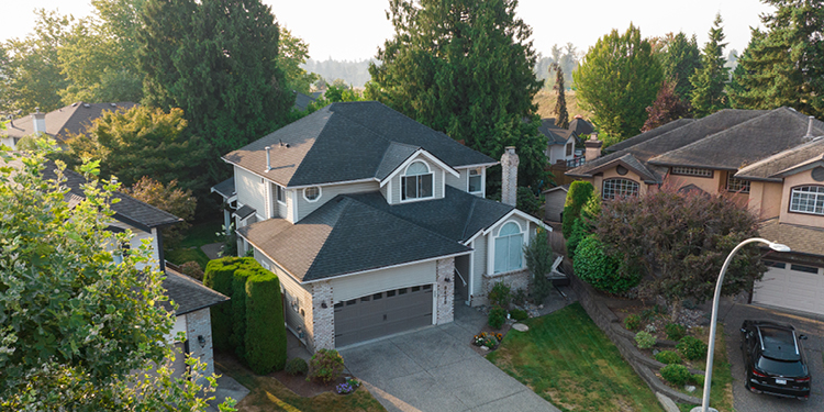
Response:
POLYGON ((690 77, 692 83, 692 113, 697 118, 717 112, 730 107, 724 86, 730 81, 730 68, 724 67, 724 29, 721 26, 721 14, 710 29, 710 41, 701 54, 701 68, 690 77))

